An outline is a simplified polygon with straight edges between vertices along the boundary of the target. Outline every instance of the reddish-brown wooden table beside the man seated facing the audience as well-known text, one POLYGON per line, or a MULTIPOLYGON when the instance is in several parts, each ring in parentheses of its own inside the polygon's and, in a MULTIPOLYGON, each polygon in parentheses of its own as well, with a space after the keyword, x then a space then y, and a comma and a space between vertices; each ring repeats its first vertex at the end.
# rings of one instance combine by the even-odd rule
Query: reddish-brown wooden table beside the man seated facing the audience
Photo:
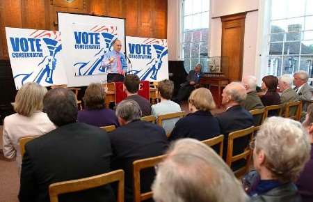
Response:
POLYGON ((218 108, 221 106, 222 103, 223 89, 225 88, 225 86, 227 86, 228 83, 229 79, 223 77, 222 75, 216 75, 216 73, 214 73, 214 75, 205 74, 200 79, 200 86, 204 86, 211 91, 218 108))

